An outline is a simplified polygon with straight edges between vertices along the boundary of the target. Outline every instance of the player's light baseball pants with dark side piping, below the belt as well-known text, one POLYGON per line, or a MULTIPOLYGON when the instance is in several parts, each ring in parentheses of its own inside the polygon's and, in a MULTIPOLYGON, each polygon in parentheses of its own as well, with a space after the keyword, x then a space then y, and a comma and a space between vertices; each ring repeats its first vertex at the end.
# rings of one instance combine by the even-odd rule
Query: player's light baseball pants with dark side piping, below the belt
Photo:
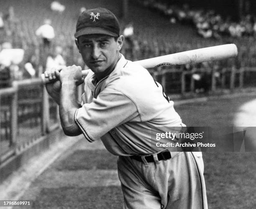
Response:
POLYGON ((171 152, 154 162, 118 158, 124 209, 207 209, 201 152, 171 152))

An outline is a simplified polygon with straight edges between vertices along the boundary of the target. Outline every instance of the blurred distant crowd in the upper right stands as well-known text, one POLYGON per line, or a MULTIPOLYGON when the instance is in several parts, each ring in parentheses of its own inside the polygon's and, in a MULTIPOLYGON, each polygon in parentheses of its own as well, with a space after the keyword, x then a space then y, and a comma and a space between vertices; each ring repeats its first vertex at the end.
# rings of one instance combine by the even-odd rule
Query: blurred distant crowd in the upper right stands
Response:
POLYGON ((192 10, 188 4, 182 7, 167 5, 157 0, 139 0, 145 7, 164 13, 170 23, 191 23, 197 33, 204 38, 220 38, 220 36, 256 36, 256 16, 245 15, 240 21, 233 21, 230 16, 223 17, 214 10, 192 10))

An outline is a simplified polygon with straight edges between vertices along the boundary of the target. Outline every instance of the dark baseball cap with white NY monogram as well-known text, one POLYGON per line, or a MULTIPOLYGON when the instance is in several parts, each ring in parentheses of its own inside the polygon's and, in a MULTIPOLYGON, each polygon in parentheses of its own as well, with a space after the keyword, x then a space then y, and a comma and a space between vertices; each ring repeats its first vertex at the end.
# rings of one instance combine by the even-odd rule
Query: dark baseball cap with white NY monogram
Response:
POLYGON ((116 16, 105 8, 83 11, 77 20, 75 38, 88 34, 119 36, 120 26, 116 16))

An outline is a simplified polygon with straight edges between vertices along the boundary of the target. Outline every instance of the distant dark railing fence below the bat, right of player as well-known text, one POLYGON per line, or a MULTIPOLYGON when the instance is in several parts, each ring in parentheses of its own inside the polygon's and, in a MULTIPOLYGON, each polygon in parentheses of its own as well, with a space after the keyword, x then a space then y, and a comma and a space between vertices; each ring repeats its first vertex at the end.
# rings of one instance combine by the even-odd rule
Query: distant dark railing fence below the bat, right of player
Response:
POLYGON ((220 92, 225 89, 236 89, 256 86, 256 68, 235 67, 217 69, 163 69, 150 71, 154 79, 161 83, 167 94, 191 94, 198 88, 204 87, 205 92, 220 92), (199 74, 201 80, 197 81, 193 75, 199 74))

